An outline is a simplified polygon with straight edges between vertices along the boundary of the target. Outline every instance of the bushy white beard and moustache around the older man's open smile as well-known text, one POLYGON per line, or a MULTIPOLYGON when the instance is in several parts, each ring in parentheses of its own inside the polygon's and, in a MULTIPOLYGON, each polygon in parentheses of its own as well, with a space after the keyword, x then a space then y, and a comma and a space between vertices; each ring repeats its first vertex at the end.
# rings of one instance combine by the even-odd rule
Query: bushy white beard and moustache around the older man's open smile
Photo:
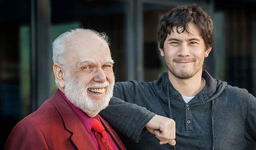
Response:
POLYGON ((83 110, 90 117, 97 115, 102 109, 106 108, 110 98, 113 95, 114 81, 109 83, 90 83, 86 87, 83 86, 81 81, 78 81, 72 77, 67 76, 67 83, 65 85, 65 95, 68 100, 76 107, 83 110), (106 87, 106 95, 104 100, 92 99, 87 94, 87 87, 106 87))

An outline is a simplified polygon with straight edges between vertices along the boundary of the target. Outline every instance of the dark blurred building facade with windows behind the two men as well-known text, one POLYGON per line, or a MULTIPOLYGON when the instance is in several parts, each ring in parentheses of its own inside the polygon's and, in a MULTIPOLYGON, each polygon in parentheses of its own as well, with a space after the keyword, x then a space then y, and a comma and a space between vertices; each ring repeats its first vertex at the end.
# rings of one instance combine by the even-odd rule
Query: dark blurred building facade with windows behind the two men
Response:
MULTIPOLYGON (((205 69, 256 96, 256 0, 193 2, 214 21, 215 44, 205 69)), ((77 27, 104 31, 116 81, 154 80, 167 70, 157 49, 157 24, 179 4, 191 0, 2 0, 1 146, 14 125, 56 90, 51 43, 59 34, 77 27)))

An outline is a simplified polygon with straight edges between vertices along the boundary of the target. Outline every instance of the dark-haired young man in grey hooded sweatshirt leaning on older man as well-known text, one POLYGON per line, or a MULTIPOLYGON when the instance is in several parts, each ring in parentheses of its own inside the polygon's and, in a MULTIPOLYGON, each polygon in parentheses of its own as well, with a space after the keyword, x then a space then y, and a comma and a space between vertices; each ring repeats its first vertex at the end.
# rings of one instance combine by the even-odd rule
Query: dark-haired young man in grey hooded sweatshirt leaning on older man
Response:
POLYGON ((181 5, 162 17, 157 35, 168 72, 152 82, 116 82, 114 97, 102 111, 114 128, 135 141, 123 140, 127 148, 233 150, 255 142, 256 98, 203 70, 213 46, 211 17, 196 4, 181 5), (171 129, 176 136, 160 137, 159 132, 170 129, 152 128, 154 122, 165 122, 159 115, 175 121, 166 124, 176 128, 171 129))

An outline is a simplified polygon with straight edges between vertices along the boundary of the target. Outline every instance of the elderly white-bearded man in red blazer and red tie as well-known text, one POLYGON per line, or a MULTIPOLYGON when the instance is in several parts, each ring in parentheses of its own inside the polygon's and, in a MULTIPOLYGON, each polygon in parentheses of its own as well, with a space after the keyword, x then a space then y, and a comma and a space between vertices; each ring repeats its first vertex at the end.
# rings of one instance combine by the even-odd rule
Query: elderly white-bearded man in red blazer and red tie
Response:
POLYGON ((53 71, 58 89, 22 119, 5 149, 125 149, 98 112, 112 96, 113 60, 108 37, 73 29, 53 42, 53 71))

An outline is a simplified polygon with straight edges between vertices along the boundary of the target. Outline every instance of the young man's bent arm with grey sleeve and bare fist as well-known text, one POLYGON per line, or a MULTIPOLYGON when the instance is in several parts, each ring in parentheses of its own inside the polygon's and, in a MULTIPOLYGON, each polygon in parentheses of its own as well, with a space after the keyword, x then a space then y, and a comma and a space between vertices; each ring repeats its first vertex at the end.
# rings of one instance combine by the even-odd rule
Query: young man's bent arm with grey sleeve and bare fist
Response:
POLYGON ((137 82, 115 84, 114 96, 108 107, 100 112, 100 115, 116 130, 136 142, 148 129, 161 141, 161 144, 174 145, 176 143, 174 140, 175 121, 168 117, 156 115, 147 108, 133 103, 136 101, 136 93, 143 92, 136 90, 135 86, 142 88, 137 82))

